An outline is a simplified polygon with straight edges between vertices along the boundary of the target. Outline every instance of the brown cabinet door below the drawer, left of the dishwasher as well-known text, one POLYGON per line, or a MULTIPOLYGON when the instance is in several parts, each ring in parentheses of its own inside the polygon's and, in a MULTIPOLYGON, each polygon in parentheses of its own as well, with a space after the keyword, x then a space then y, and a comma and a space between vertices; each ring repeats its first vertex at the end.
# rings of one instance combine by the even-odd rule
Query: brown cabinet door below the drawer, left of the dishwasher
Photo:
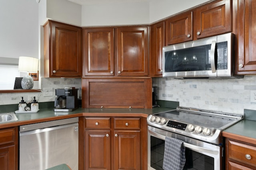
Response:
POLYGON ((15 145, 0 147, 0 170, 15 170, 15 145))

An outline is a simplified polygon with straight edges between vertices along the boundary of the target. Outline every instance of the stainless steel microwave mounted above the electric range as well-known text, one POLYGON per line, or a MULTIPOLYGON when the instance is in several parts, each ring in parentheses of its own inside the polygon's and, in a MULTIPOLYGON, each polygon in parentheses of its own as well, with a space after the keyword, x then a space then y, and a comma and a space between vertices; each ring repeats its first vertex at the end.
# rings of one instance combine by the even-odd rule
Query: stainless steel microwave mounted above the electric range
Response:
POLYGON ((243 78, 234 75, 234 34, 163 47, 163 77, 243 78))

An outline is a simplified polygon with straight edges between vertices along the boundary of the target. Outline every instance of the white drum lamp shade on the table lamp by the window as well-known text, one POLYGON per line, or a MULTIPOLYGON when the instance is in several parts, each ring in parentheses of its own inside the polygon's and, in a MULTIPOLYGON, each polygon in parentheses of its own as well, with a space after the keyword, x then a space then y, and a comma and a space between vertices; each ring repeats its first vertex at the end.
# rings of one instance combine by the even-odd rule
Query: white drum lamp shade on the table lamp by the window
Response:
POLYGON ((38 59, 33 57, 19 57, 18 71, 20 72, 37 72, 38 59))

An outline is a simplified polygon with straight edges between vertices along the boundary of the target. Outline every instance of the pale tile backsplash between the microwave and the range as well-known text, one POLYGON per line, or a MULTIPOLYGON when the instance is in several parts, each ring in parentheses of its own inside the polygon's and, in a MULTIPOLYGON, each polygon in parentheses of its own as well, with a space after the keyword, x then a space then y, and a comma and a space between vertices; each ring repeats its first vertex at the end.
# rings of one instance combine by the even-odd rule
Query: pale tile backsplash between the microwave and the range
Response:
POLYGON ((180 106, 226 113, 244 114, 256 110, 250 102, 250 91, 256 90, 256 76, 242 79, 174 79, 153 78, 158 100, 180 102, 180 106))

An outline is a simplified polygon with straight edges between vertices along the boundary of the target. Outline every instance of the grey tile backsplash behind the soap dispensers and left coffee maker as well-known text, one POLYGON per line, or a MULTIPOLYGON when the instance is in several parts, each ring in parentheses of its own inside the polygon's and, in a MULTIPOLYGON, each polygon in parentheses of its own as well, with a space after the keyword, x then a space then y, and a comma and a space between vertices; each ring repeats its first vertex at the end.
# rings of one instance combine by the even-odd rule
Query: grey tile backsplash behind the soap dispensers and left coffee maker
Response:
POLYGON ((27 102, 31 97, 35 96, 38 102, 52 102, 55 99, 55 89, 64 87, 78 88, 78 96, 82 98, 82 79, 81 78, 41 78, 41 89, 53 88, 53 96, 44 97, 43 92, 27 92, 27 93, 0 93, 0 105, 18 104, 21 97, 27 102))

